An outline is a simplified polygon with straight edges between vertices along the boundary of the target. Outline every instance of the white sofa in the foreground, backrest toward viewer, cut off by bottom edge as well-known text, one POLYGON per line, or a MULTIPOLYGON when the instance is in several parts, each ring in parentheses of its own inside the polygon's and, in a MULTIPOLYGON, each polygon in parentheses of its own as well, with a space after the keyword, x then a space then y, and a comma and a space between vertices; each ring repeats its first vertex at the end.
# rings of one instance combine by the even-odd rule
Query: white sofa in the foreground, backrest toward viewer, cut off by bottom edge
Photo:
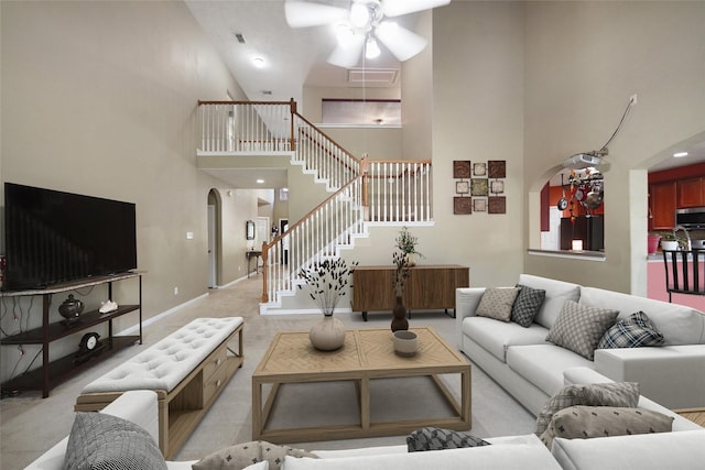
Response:
MULTIPOLYGON (((609 379, 586 368, 566 371, 566 384, 604 383, 609 379)), ((159 439, 156 394, 152 391, 126 392, 100 413, 111 414, 147 429, 159 439)), ((639 407, 672 416, 673 433, 595 439, 556 438, 550 451, 533 435, 486 438, 490 446, 408 452, 405 445, 345 450, 314 450, 318 459, 285 457, 283 470, 393 470, 393 469, 582 469, 650 470, 677 468, 695 470, 705 461, 705 429, 640 397, 639 407)), ((68 437, 32 462, 30 470, 59 470, 68 437)), ((204 456, 205 457, 205 456, 204 456)), ((189 470, 192 461, 167 461, 169 470, 189 470)))

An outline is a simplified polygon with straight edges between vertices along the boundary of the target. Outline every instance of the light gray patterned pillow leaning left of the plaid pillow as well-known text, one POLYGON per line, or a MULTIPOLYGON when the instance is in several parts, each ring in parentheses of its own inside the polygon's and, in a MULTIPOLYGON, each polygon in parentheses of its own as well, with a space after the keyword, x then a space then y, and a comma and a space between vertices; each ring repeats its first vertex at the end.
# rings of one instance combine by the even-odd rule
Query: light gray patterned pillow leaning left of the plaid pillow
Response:
POLYGON ((595 357, 595 349, 605 331, 612 326, 618 310, 608 310, 566 300, 561 316, 549 330, 546 341, 577 352, 586 359, 595 357))

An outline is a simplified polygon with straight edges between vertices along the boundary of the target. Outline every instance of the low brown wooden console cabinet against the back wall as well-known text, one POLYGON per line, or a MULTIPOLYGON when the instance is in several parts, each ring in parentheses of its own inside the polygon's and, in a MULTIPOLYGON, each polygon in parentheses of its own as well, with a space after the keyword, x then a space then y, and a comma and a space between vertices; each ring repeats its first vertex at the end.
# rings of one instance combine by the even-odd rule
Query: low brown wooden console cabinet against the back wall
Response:
MULTIPOLYGON (((391 311, 394 308, 394 266, 357 266, 352 273, 352 311, 391 311)), ((470 270, 457 264, 416 265, 409 270, 403 303, 408 311, 453 308, 455 289, 469 287, 470 270)))

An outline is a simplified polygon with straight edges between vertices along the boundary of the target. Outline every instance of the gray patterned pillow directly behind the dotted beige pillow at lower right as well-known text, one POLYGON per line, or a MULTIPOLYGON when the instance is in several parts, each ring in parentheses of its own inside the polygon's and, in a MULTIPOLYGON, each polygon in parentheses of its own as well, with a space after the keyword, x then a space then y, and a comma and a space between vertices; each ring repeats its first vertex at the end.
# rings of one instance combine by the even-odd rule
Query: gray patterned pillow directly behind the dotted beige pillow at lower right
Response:
POLYGON ((541 437, 549 427, 553 415, 570 406, 620 406, 633 408, 638 403, 639 384, 637 382, 566 385, 543 405, 536 417, 534 433, 541 437))

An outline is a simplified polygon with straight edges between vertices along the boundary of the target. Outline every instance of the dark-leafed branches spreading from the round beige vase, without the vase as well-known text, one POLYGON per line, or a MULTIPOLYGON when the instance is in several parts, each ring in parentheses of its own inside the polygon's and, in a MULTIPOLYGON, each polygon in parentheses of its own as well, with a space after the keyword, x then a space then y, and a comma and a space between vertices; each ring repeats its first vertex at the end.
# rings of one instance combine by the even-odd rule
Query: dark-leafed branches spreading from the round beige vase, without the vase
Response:
MULTIPOLYGON (((316 261, 310 267, 299 272, 299 276, 306 281, 308 295, 318 305, 321 311, 329 317, 348 286, 349 276, 355 272, 357 261, 348 264, 344 259, 316 261)), ((303 288, 299 285, 299 288, 303 288)))

